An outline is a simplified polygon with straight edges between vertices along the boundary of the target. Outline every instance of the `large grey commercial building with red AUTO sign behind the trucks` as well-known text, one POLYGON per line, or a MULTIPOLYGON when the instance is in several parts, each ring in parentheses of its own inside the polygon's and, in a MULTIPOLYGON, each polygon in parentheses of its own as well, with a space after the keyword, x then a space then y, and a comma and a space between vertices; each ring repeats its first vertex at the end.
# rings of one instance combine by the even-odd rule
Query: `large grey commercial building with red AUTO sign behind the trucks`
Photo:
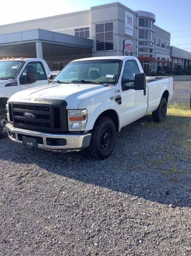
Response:
POLYGON ((155 20, 153 13, 133 11, 115 2, 2 25, 0 58, 43 58, 52 70, 77 58, 125 54, 137 56, 150 72, 161 64, 190 64, 186 51, 177 60, 177 50, 170 47, 171 34, 157 27, 155 20))

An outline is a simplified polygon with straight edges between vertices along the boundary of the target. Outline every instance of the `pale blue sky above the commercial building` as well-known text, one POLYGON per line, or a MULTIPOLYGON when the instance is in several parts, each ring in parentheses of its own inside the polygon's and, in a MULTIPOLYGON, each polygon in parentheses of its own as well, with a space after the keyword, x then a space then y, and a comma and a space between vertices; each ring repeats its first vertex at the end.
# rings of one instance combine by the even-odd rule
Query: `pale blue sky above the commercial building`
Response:
POLYGON ((155 25, 171 33, 171 46, 191 52, 191 0, 7 0, 1 4, 0 25, 39 19, 119 2, 133 11, 156 15, 155 25))

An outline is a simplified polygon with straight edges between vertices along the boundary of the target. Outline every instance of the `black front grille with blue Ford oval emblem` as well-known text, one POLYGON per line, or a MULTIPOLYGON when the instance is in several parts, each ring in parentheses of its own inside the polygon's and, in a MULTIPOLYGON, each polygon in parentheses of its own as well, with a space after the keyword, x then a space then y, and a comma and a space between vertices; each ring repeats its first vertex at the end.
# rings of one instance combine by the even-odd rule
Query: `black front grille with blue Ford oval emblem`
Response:
POLYGON ((29 99, 27 103, 9 103, 10 122, 13 126, 35 131, 67 132, 66 101, 29 99))

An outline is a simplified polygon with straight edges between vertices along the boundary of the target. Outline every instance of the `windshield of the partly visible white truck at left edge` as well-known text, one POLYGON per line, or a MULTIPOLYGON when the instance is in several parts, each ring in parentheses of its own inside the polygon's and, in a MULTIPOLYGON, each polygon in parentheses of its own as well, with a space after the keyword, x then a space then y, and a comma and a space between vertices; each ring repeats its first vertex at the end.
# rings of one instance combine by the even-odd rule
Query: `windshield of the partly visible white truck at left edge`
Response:
POLYGON ((0 61, 0 80, 14 79, 24 61, 0 61))

